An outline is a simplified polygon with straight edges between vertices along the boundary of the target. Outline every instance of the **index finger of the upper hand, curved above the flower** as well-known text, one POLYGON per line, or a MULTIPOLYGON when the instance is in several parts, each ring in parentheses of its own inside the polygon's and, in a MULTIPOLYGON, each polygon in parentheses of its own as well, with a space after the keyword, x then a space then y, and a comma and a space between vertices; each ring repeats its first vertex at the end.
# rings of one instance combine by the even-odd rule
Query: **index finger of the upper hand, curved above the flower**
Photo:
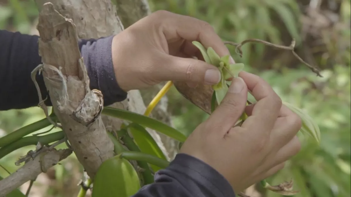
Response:
MULTIPOLYGON (((154 14, 160 15, 155 18, 161 20, 164 27, 163 33, 167 40, 181 38, 191 42, 198 41, 205 48, 212 47, 220 57, 230 55, 228 48, 209 23, 168 11, 157 11, 154 14)), ((232 61, 235 63, 234 60, 232 61)))

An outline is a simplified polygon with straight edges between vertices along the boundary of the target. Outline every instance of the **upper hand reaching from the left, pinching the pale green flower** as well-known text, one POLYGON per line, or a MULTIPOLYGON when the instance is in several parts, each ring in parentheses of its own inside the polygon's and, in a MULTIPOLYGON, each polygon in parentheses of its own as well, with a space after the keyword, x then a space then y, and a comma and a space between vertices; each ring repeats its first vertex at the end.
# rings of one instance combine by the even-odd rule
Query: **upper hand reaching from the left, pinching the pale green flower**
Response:
POLYGON ((203 57, 192 41, 212 47, 220 56, 230 55, 207 22, 167 11, 157 11, 137 21, 112 41, 119 86, 129 91, 163 81, 184 81, 191 87, 218 83, 219 70, 201 61, 203 57))

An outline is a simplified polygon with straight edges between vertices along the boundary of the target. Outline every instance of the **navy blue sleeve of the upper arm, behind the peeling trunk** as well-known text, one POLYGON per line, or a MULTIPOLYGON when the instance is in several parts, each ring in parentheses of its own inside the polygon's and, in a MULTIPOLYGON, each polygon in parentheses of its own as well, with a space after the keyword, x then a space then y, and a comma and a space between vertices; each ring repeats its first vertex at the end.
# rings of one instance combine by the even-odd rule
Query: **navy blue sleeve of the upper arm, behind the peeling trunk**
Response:
MULTIPOLYGON (((41 64, 36 35, 0 30, 0 110, 24 109, 37 106, 39 98, 31 79, 32 70, 41 64)), ((127 93, 115 79, 111 43, 113 36, 79 40, 79 49, 90 78, 90 88, 104 96, 104 105, 126 99, 127 93)), ((51 106, 42 75, 37 74, 42 99, 51 106)))

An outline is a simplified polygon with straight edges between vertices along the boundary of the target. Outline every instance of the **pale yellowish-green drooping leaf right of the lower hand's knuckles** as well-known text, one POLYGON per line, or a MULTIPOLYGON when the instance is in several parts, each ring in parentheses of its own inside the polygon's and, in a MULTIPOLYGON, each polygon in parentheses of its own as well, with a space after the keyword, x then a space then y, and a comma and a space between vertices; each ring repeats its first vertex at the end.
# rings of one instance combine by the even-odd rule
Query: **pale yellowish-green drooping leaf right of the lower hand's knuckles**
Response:
POLYGON ((290 110, 292 110, 294 113, 296 113, 297 115, 300 116, 300 118, 302 120, 301 131, 303 133, 310 135, 319 144, 320 143, 320 130, 319 130, 318 125, 311 118, 311 116, 309 116, 307 113, 305 113, 302 109, 299 109, 290 103, 283 101, 283 104, 285 104, 290 110))

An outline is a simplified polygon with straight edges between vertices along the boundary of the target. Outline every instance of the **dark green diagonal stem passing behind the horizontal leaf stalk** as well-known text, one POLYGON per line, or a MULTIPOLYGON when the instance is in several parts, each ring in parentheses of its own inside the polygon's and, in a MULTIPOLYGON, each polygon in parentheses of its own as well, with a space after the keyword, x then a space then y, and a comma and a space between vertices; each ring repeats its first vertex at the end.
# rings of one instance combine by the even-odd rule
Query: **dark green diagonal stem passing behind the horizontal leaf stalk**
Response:
MULTIPOLYGON (((129 150, 135 151, 135 152, 141 152, 138 145, 135 144, 133 139, 128 135, 126 129, 122 129, 122 130, 118 131, 117 135, 121 138, 121 140, 125 143, 126 147, 129 150)), ((125 151, 122 151, 121 153, 123 153, 123 152, 125 152, 125 151)), ((147 162, 137 160, 137 163, 138 163, 139 167, 143 169, 143 171, 141 171, 140 173, 143 176, 144 185, 153 183, 154 176, 152 175, 152 171, 150 169, 150 166, 147 164, 147 162)))

